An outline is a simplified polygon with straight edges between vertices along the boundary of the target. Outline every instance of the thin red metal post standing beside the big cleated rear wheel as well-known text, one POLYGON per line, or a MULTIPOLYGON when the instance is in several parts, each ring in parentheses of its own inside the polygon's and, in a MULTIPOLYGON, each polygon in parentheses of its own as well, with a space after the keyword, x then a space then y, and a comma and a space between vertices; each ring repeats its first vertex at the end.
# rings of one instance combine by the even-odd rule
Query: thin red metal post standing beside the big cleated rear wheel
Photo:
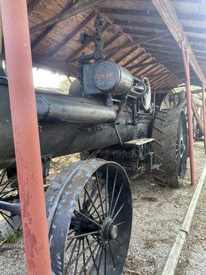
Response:
POLYGON ((190 174, 192 186, 196 185, 195 164, 194 164, 194 140, 193 140, 193 125, 192 125, 192 94, 190 89, 190 63, 189 54, 185 50, 183 41, 181 42, 181 50, 183 54, 183 63, 185 67, 186 78, 186 96, 187 96, 187 119, 188 119, 188 135, 190 148, 190 174))

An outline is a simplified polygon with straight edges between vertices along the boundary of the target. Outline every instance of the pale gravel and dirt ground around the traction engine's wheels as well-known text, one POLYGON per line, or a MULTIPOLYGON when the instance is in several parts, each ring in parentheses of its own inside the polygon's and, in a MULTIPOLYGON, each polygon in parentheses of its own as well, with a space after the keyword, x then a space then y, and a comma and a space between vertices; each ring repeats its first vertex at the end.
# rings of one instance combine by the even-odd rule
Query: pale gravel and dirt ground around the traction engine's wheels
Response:
MULTIPOLYGON (((195 143, 196 178, 201 176, 206 157, 203 142, 195 143)), ((52 179, 61 167, 75 157, 54 160, 52 179)), ((176 234, 183 223, 194 188, 190 186, 190 162, 180 189, 158 186, 151 175, 130 181, 133 190, 133 232, 124 275, 161 274, 176 234)), ((176 275, 205 275, 206 272, 206 186, 194 214, 190 234, 184 245, 176 275)), ((0 274, 25 274, 23 239, 0 241, 0 274)))

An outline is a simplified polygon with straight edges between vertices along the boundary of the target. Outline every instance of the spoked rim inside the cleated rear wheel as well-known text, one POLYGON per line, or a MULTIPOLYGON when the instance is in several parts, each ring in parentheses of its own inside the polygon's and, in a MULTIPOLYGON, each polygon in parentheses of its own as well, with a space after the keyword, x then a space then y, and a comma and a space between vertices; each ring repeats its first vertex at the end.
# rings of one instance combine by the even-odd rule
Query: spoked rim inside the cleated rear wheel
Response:
POLYGON ((187 124, 183 111, 179 116, 176 135, 176 171, 178 177, 185 177, 187 166, 187 124))

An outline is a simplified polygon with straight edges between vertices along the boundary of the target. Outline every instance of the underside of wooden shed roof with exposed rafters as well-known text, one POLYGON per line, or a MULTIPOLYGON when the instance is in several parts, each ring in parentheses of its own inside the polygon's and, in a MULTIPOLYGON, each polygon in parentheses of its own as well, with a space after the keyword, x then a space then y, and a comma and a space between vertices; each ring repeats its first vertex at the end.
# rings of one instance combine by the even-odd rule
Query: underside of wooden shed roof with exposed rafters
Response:
POLYGON ((93 33, 94 17, 99 12, 104 19, 107 57, 133 74, 148 76, 152 91, 168 90, 185 81, 177 43, 182 40, 188 47, 191 45, 192 83, 203 82, 206 72, 204 1, 174 0, 165 7, 163 3, 167 1, 92 2, 93 7, 87 8, 88 1, 27 1, 34 64, 76 76, 78 56, 83 52, 89 54, 94 48, 92 42, 82 45, 80 34, 93 33), (72 11, 78 13, 71 16, 72 11))

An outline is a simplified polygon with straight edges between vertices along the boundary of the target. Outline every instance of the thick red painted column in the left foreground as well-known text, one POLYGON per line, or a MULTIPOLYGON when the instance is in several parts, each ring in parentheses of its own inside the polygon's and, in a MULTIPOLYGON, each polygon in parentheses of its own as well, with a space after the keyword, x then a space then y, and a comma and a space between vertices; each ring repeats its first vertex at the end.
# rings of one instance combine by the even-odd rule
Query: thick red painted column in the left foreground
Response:
POLYGON ((0 0, 27 274, 51 275, 26 0, 0 0))

